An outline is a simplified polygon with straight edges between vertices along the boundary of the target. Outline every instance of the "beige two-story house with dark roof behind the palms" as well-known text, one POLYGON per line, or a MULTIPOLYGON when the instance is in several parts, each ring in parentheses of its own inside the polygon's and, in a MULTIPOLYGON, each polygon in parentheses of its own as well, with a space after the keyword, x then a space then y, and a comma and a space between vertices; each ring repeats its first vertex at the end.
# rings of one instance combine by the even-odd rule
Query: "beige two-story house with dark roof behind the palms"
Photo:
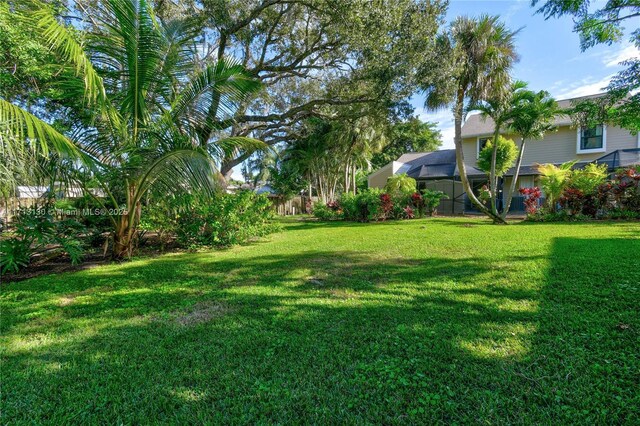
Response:
MULTIPOLYGON (((568 108, 576 99, 559 101, 560 108, 568 108)), ((571 118, 558 116, 556 130, 545 135, 542 140, 528 140, 523 157, 517 188, 538 186, 537 165, 545 163, 561 164, 577 160, 576 167, 590 163, 606 163, 610 170, 640 164, 640 135, 632 135, 628 130, 607 125, 594 128, 576 128, 571 118)), ((480 114, 470 115, 462 127, 462 150, 467 175, 474 191, 487 183, 487 175, 476 168, 478 154, 493 135, 494 123, 480 114)), ((520 145, 518 135, 504 134, 520 145)), ((382 188, 389 176, 407 173, 416 179, 418 188, 443 191, 449 197, 444 200, 441 211, 463 213, 473 211, 460 183, 460 175, 455 163, 455 150, 440 150, 423 153, 407 153, 369 176, 369 187, 382 188)), ((502 181, 508 188, 513 176, 509 170, 502 181)), ((500 197, 502 197, 502 193, 500 197)), ((516 194, 511 210, 520 212, 524 208, 522 198, 516 194)))

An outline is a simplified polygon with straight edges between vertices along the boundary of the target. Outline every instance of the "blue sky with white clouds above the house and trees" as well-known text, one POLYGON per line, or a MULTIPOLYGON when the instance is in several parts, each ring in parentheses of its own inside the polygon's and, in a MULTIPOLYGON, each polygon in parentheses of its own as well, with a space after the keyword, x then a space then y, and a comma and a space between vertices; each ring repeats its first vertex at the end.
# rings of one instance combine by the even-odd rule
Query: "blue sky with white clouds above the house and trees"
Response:
MULTIPOLYGON (((545 21, 543 16, 535 14, 529 0, 451 0, 447 20, 485 13, 500 15, 512 29, 523 27, 516 39, 520 62, 515 65, 513 76, 528 82, 533 90, 549 91, 556 99, 602 92, 611 76, 622 69, 619 62, 640 56, 626 39, 624 43, 596 46, 581 52, 578 35, 572 31, 571 18, 545 21)), ((625 26, 639 27, 640 18, 629 21, 625 26)), ((425 111, 421 96, 415 96, 412 103, 422 120, 438 123, 442 132, 442 148, 453 148, 451 112, 425 111)))

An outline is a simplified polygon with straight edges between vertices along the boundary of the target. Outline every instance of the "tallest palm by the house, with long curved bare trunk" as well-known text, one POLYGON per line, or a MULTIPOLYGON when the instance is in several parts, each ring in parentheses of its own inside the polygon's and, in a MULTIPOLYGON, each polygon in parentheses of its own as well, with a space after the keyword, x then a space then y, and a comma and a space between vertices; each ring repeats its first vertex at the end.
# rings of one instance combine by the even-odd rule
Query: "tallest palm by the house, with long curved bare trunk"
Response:
POLYGON ((487 209, 473 193, 462 151, 462 121, 468 110, 465 106, 506 96, 510 87, 509 71, 518 60, 515 51, 517 31, 510 31, 498 19, 497 16, 456 18, 449 31, 438 37, 436 50, 440 60, 437 63, 441 69, 423 70, 430 75, 430 81, 423 89, 427 95, 427 108, 453 105, 456 164, 467 196, 480 211, 494 221, 504 223, 504 219, 487 209), (449 68, 442 69, 444 67, 449 68))

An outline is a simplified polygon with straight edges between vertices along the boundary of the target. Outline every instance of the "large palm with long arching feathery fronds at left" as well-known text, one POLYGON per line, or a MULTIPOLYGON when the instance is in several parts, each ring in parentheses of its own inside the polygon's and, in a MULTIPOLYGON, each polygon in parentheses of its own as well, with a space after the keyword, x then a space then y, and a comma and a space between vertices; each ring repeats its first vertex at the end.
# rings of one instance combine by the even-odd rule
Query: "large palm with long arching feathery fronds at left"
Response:
POLYGON ((210 143, 200 136, 203 129, 222 130, 220 123, 260 85, 233 62, 198 66, 193 27, 158 21, 146 0, 101 2, 99 7, 86 44, 45 4, 23 14, 63 66, 75 71, 77 78, 65 81, 65 88, 84 98, 94 111, 92 122, 66 135, 0 100, 0 121, 7 123, 0 135, 12 146, 27 144, 43 154, 53 149, 80 159, 73 177, 90 195, 86 182, 98 182, 105 197, 95 197, 96 202, 116 213, 109 215, 113 255, 124 257, 131 255, 141 200, 151 187, 211 190, 215 158, 239 145, 263 146, 247 138, 210 143))

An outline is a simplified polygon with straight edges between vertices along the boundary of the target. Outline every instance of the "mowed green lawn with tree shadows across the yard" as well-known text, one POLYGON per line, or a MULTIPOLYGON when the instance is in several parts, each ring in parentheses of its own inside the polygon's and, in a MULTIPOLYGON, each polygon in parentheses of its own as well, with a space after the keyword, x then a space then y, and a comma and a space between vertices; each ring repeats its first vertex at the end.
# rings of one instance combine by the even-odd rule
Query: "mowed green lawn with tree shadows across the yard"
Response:
POLYGON ((2 287, 2 423, 640 423, 640 224, 302 223, 2 287))

